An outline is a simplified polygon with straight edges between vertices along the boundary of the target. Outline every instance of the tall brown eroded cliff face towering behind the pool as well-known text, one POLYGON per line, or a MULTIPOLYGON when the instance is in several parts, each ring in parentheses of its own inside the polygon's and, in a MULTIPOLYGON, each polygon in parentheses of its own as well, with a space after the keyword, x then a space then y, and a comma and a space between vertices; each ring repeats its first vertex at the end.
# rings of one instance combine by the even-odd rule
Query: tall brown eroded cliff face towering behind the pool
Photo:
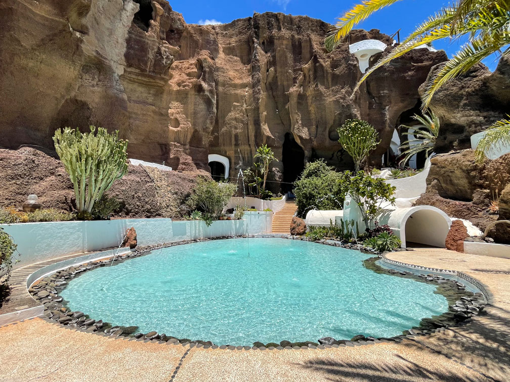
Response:
MULTIPOLYGON (((348 118, 379 131, 371 161, 380 164, 429 69, 446 60, 413 50, 351 97, 362 75, 355 57, 347 43, 327 53, 330 25, 309 17, 193 25, 164 0, 5 0, 0 23, 0 88, 9 94, 0 99, 0 146, 53 148, 55 129, 96 124, 119 129, 130 157, 209 170, 215 153, 230 159, 233 176, 267 143, 279 160, 276 180, 294 166, 284 158, 286 139, 303 161, 350 168, 336 133, 348 118)), ((350 38, 391 43, 377 30, 350 38)))

